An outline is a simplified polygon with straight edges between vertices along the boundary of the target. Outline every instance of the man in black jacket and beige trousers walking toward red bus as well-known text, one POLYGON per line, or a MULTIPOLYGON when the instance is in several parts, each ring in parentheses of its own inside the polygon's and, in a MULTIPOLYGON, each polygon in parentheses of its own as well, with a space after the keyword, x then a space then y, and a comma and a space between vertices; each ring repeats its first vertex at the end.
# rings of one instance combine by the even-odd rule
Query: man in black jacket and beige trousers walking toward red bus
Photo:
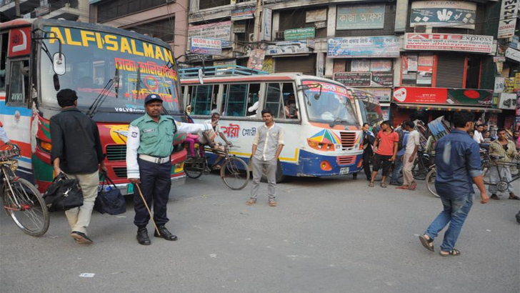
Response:
POLYGON ((87 237, 99 186, 98 169, 106 172, 103 148, 96 122, 76 108, 76 91, 62 89, 56 94, 61 113, 51 117, 51 162, 54 175, 61 172, 79 180, 83 205, 65 211, 71 227, 71 237, 81 244, 91 244, 87 237))

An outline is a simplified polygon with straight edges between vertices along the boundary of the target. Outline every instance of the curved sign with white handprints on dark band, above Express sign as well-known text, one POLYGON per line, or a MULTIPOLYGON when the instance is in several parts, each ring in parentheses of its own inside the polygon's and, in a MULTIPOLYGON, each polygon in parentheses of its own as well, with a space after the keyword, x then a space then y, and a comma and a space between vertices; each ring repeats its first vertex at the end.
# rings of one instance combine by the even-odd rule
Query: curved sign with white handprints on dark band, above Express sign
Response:
POLYGON ((476 4, 464 1, 415 1, 410 26, 475 29, 476 4))

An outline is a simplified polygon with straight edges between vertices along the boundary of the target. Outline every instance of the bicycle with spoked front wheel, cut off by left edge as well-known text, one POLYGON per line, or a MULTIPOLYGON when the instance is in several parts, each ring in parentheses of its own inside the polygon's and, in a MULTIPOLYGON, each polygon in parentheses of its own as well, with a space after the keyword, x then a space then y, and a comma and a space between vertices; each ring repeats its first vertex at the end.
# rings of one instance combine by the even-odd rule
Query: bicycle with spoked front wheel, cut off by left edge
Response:
POLYGON ((8 144, 0 150, 0 195, 6 214, 21 231, 31 236, 41 236, 49 229, 49 212, 36 187, 14 173, 18 167, 20 148, 8 144))

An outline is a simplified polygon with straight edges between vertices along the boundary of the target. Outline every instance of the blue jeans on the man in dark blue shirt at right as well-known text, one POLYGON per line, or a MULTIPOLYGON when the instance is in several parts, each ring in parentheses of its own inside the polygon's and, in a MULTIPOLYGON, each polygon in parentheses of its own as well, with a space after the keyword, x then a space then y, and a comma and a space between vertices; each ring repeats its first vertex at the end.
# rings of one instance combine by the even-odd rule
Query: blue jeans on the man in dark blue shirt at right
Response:
POLYGON ((466 217, 468 217, 469 210, 473 205, 473 194, 467 194, 466 197, 458 199, 447 199, 443 194, 439 195, 441 196, 444 210, 434 219, 434 222, 431 222, 425 234, 428 235, 430 239, 435 239, 437 234, 449 223, 449 227, 444 233, 441 250, 451 252, 459 238, 462 225, 466 217))

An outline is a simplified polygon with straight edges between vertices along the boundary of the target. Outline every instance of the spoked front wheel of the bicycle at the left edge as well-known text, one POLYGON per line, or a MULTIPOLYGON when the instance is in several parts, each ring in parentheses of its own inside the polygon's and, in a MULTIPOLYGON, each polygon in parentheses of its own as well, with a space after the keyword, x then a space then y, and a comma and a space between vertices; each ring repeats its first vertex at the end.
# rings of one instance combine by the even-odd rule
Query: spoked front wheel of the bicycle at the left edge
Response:
POLYGON ((4 210, 21 231, 31 236, 41 236, 49 229, 49 212, 40 192, 25 179, 4 182, 1 192, 4 210))

